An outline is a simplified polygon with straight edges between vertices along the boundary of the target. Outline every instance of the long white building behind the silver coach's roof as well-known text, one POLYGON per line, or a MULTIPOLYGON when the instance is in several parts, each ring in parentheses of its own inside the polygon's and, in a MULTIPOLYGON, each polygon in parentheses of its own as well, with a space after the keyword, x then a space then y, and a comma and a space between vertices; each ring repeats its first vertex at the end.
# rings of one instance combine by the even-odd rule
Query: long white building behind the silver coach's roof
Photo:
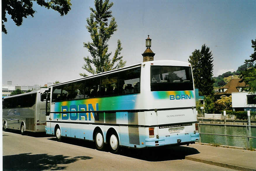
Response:
POLYGON ((2 96, 10 96, 14 90, 20 89, 23 92, 27 90, 36 90, 41 88, 40 85, 12 85, 11 81, 7 81, 7 85, 2 85, 2 96))

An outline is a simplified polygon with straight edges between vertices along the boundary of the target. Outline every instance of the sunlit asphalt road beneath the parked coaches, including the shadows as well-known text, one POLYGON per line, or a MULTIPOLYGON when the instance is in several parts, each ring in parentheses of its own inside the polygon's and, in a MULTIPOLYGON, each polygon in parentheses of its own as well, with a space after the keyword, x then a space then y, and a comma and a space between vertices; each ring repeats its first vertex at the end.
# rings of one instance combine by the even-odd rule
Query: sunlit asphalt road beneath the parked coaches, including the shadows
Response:
POLYGON ((189 146, 98 151, 93 142, 3 131, 3 170, 232 170, 185 160, 189 146))

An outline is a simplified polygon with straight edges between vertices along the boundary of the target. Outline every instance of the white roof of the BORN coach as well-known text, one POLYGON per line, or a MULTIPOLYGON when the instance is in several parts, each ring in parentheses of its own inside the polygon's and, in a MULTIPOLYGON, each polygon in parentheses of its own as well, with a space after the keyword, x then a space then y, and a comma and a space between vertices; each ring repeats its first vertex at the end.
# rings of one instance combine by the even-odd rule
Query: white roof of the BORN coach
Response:
POLYGON ((105 72, 102 72, 102 73, 99 73, 99 74, 94 74, 94 75, 91 75, 91 76, 86 76, 86 77, 83 77, 83 78, 77 78, 77 79, 74 79, 74 80, 70 80, 70 81, 65 81, 65 82, 62 82, 62 83, 57 83, 57 84, 53 84, 53 85, 50 85, 49 87, 52 87, 52 86, 55 86, 55 85, 61 85, 61 84, 65 84, 65 83, 71 83, 73 81, 79 81, 79 80, 84 80, 84 79, 87 79, 87 78, 92 78, 92 77, 96 77, 96 76, 100 76, 100 75, 105 75, 105 74, 108 74, 108 73, 115 73, 117 71, 122 71, 122 70, 126 70, 126 69, 130 69, 130 68, 135 68, 135 67, 139 67, 141 64, 152 64, 153 65, 166 65, 166 66, 190 66, 191 64, 188 63, 188 62, 184 62, 184 61, 177 61, 177 60, 155 60, 155 61, 147 61, 147 62, 142 62, 142 63, 138 63, 138 64, 134 64, 134 65, 130 65, 130 66, 127 66, 127 67, 123 67, 123 68, 119 68, 119 69, 114 69, 114 70, 110 70, 110 71, 105 71, 105 72))

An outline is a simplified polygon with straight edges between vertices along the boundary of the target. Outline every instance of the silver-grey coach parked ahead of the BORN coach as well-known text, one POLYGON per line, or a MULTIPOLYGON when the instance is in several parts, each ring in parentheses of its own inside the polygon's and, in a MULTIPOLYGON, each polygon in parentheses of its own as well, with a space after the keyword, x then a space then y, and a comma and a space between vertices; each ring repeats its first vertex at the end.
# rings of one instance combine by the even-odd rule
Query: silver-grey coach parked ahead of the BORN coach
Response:
POLYGON ((2 122, 4 130, 20 130, 22 135, 25 131, 45 132, 46 102, 41 101, 41 94, 45 90, 48 90, 48 88, 5 97, 3 100, 2 122))

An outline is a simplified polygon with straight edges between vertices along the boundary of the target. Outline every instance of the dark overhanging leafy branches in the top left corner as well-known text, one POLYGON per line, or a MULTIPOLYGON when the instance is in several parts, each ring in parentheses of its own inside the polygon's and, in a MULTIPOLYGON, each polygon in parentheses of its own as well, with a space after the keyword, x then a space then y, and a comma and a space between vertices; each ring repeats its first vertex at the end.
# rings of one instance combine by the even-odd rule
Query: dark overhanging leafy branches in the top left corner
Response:
POLYGON ((33 1, 36 1, 38 5, 45 8, 51 8, 58 11, 61 16, 66 15, 70 11, 70 0, 2 0, 2 32, 7 34, 4 22, 7 22, 6 12, 11 15, 11 19, 17 26, 20 26, 23 22, 23 18, 27 16, 34 17, 33 1))

